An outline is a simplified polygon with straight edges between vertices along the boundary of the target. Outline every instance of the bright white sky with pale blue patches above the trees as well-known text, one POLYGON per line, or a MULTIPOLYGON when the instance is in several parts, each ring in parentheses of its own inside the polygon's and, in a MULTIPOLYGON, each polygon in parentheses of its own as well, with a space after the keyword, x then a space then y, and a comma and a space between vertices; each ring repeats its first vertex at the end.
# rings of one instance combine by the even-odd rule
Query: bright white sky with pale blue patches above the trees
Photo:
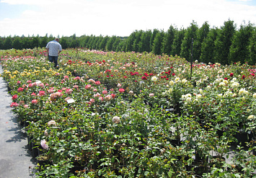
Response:
POLYGON ((256 24, 256 0, 0 0, 0 36, 129 36, 164 30, 256 24))

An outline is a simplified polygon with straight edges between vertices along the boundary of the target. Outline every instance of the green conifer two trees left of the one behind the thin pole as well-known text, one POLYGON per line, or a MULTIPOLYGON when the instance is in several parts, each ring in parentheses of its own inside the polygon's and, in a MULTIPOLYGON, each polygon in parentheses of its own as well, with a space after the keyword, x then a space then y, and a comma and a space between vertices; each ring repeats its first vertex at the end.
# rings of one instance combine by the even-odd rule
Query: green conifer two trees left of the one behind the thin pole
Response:
POLYGON ((176 32, 177 32, 177 29, 171 25, 169 27, 169 30, 167 30, 166 35, 164 35, 164 39, 162 43, 162 53, 165 53, 167 55, 172 54, 172 43, 175 40, 176 32))

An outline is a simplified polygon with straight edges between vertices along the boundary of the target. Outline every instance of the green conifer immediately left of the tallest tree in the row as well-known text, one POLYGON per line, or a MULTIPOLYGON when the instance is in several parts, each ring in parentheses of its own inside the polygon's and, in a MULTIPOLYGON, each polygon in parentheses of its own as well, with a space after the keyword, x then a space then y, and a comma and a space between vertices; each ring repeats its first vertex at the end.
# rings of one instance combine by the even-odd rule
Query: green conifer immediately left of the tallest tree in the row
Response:
POLYGON ((215 63, 214 55, 215 53, 215 40, 218 34, 218 28, 212 28, 206 37, 206 40, 203 40, 201 45, 201 54, 200 54, 200 62, 203 63, 215 63))

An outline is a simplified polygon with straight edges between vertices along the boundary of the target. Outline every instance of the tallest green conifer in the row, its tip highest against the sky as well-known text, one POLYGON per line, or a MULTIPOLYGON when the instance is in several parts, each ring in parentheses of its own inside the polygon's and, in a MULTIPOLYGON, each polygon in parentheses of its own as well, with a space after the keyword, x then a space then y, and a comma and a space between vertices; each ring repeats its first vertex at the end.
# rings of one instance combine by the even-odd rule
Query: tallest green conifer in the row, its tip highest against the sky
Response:
POLYGON ((224 26, 218 31, 218 35, 215 40, 215 53, 214 61, 221 64, 229 64, 229 48, 232 44, 232 38, 236 31, 236 25, 234 21, 230 19, 224 22, 224 26))

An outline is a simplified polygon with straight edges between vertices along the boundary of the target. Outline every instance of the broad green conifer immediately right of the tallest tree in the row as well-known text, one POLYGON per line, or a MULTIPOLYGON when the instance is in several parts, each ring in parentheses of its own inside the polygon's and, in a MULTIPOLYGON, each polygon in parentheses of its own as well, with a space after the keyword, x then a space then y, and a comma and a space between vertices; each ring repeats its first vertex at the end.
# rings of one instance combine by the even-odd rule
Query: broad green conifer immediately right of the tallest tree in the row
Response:
POLYGON ((252 24, 240 25, 238 31, 234 33, 229 51, 229 64, 231 62, 241 63, 250 61, 250 38, 252 37, 252 24))

